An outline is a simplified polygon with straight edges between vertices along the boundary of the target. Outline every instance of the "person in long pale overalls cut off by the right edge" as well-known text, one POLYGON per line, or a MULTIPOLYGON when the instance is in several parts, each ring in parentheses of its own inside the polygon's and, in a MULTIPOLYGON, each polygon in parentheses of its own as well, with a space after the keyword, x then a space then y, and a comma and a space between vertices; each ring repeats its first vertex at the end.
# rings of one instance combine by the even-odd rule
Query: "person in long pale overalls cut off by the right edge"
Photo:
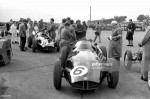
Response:
POLYGON ((142 47, 142 61, 143 66, 141 67, 141 79, 148 81, 148 71, 150 64, 150 26, 146 28, 145 36, 142 41, 138 44, 139 47, 142 47))

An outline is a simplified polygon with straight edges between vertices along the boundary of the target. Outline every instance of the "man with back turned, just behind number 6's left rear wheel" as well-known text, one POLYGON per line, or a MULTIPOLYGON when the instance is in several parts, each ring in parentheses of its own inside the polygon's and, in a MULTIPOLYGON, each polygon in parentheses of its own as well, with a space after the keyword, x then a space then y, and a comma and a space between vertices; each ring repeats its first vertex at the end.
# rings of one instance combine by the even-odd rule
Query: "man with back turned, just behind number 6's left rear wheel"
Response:
POLYGON ((60 47, 68 46, 70 47, 71 39, 75 39, 74 35, 70 33, 70 23, 66 22, 65 27, 61 30, 61 41, 60 47))

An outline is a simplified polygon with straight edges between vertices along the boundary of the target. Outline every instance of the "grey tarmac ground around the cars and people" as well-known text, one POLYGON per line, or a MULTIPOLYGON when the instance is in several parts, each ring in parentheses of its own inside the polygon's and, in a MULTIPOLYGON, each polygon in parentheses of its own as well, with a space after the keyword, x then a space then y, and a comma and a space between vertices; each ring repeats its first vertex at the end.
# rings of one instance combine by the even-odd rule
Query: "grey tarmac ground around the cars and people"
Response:
MULTIPOLYGON (((102 43, 108 49, 108 39, 110 31, 103 31, 102 43)), ((125 40, 126 32, 123 32, 123 55, 125 50, 131 49, 132 52, 139 50, 137 43, 144 35, 144 32, 136 32, 134 35, 134 47, 127 47, 125 40)), ((94 39, 94 32, 88 30, 87 38, 94 39)), ((19 50, 18 44, 13 44, 13 57, 11 63, 0 67, 0 77, 8 88, 4 99, 150 99, 150 91, 147 82, 140 79, 140 66, 136 62, 131 71, 127 71, 123 65, 123 58, 119 83, 116 89, 110 89, 105 79, 102 85, 94 91, 79 91, 72 88, 66 81, 62 81, 62 89, 57 91, 53 86, 53 68, 59 52, 36 52, 31 49, 26 52, 19 50)))

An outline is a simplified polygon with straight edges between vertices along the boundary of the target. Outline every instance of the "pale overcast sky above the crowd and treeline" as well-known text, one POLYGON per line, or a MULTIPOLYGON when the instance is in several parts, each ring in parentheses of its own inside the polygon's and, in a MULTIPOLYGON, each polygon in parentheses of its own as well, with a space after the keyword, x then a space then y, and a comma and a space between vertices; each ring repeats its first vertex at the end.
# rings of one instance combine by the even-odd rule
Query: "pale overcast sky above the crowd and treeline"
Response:
POLYGON ((126 15, 136 20, 139 14, 150 15, 150 0, 0 0, 0 21, 19 20, 20 17, 49 22, 62 18, 87 21, 126 15))

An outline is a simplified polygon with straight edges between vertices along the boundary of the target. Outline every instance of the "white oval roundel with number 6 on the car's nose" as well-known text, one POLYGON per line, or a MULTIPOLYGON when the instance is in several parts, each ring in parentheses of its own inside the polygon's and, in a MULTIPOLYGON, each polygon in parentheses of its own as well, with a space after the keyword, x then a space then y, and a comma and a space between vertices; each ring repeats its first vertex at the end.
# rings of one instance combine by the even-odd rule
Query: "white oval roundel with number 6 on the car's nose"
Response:
POLYGON ((73 68, 70 72, 71 76, 82 76, 88 72, 88 69, 85 66, 77 66, 73 68))

